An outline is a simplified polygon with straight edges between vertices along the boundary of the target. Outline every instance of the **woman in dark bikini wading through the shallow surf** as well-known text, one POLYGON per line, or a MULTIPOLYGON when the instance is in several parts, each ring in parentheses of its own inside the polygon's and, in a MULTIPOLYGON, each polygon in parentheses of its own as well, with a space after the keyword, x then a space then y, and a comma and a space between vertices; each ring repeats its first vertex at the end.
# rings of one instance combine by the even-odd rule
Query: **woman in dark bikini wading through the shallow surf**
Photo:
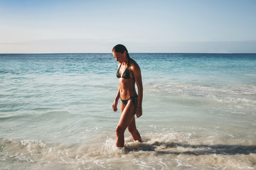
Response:
POLYGON ((142 115, 142 74, 139 65, 129 57, 127 48, 124 45, 116 45, 112 50, 114 58, 119 62, 117 78, 119 79, 119 89, 112 105, 113 111, 117 111, 117 103, 121 98, 121 117, 117 125, 117 147, 124 147, 124 131, 132 134, 133 139, 142 142, 142 137, 135 125, 134 115, 139 118, 142 115), (138 94, 135 90, 137 84, 138 94))

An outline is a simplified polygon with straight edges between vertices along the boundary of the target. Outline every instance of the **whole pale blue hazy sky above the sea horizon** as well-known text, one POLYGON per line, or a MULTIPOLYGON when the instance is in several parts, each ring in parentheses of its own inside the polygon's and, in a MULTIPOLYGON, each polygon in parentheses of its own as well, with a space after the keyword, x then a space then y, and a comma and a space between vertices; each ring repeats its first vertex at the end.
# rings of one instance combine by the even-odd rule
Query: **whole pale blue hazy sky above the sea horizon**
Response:
POLYGON ((256 0, 0 0, 0 53, 256 53, 256 0))

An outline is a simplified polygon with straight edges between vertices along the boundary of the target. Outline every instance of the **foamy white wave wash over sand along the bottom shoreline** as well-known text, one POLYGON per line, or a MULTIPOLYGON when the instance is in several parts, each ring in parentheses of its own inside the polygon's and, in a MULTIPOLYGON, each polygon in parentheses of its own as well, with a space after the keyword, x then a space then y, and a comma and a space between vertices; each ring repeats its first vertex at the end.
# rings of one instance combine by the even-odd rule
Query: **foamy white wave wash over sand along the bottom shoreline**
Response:
POLYGON ((0 162, 6 169, 256 169, 256 141, 223 143, 179 133, 142 139, 127 137, 122 149, 114 136, 73 145, 3 139, 0 162))

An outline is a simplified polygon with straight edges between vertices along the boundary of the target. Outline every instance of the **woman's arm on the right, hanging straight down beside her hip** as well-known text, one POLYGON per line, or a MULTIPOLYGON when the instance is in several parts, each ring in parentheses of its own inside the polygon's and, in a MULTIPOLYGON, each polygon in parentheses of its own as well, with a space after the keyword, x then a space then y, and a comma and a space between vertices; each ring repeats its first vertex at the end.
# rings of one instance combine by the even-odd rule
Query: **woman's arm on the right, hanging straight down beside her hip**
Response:
POLYGON ((138 87, 138 104, 137 104, 137 118, 142 115, 142 98, 143 98, 143 86, 142 86, 142 73, 139 65, 134 64, 134 79, 138 87))

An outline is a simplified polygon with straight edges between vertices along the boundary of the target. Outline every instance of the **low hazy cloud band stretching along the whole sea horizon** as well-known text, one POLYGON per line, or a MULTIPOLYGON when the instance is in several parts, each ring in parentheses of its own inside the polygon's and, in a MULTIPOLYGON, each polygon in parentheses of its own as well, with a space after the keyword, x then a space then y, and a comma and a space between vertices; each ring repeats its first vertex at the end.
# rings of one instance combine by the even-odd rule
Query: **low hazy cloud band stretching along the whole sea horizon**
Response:
POLYGON ((53 39, 0 42, 0 53, 111 52, 122 43, 129 52, 256 53, 256 40, 230 42, 139 42, 126 40, 53 39))

